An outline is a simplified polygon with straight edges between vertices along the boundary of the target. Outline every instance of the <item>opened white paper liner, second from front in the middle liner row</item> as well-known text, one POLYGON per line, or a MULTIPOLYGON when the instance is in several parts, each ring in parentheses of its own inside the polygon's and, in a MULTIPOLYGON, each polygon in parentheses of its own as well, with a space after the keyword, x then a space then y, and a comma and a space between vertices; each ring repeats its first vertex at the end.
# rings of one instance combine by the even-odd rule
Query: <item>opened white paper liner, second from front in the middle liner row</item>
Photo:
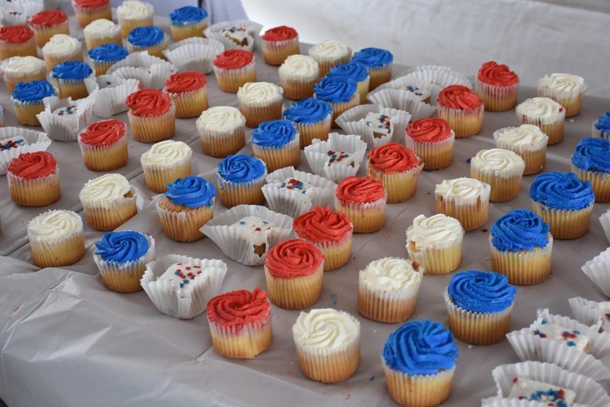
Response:
POLYGON ((267 251, 290 235, 292 222, 293 218, 270 211, 264 206, 238 205, 213 217, 199 230, 234 261, 243 265, 261 265, 267 258, 267 251), (239 229, 232 226, 248 216, 256 216, 276 225, 266 236, 265 253, 256 254, 253 248, 256 243, 254 239, 249 234, 240 234, 239 229))

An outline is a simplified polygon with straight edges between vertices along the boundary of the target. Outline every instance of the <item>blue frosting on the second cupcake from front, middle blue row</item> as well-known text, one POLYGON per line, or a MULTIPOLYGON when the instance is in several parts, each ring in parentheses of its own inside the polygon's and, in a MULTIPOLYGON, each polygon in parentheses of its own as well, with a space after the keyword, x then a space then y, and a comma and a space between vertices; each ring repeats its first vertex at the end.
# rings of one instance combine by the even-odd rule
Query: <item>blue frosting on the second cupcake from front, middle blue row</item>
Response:
POLYGON ((206 181, 198 176, 187 176, 177 178, 171 184, 167 184, 165 196, 170 198, 174 205, 186 207, 212 206, 216 189, 212 182, 206 181))

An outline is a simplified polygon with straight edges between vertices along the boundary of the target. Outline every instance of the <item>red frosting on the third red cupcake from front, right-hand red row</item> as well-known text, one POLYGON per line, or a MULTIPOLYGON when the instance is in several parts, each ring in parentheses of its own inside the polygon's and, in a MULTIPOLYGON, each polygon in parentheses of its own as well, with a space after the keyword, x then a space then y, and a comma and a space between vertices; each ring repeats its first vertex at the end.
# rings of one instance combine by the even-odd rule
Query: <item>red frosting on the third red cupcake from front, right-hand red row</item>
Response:
POLYGON ((314 206, 309 212, 298 215, 292 223, 296 236, 316 243, 339 242, 354 226, 343 212, 333 212, 331 207, 314 206))

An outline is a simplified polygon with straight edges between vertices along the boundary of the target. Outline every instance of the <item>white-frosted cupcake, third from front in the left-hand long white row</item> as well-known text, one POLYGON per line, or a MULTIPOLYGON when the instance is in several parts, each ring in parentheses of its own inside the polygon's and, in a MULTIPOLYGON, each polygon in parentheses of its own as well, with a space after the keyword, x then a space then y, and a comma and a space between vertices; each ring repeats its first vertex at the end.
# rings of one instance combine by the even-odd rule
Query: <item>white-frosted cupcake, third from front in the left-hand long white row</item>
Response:
POLYGON ((165 192, 174 179, 189 176, 192 156, 193 150, 186 143, 174 140, 154 143, 140 156, 148 189, 165 192))

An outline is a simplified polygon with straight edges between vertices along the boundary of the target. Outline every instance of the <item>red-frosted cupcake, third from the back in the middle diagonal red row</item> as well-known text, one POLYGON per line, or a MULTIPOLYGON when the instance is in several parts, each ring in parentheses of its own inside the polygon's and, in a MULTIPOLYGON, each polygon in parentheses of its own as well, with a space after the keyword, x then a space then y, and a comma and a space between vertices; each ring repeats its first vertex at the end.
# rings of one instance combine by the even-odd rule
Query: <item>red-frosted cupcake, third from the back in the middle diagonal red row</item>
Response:
POLYGON ((170 95, 176 106, 176 117, 198 117, 207 109, 207 82, 203 73, 174 73, 165 82, 163 92, 170 95))

